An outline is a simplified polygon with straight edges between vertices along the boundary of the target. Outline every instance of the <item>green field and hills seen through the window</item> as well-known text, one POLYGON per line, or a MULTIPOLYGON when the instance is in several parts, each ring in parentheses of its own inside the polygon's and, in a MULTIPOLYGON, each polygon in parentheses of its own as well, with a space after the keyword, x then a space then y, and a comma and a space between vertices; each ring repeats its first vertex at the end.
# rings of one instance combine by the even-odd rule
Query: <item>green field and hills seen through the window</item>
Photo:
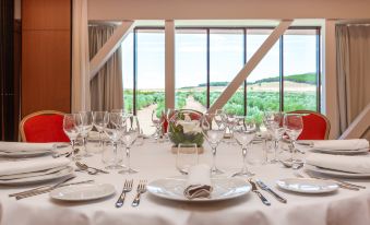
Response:
MULTIPOLYGON (((268 78, 259 80, 250 84, 261 84, 268 82, 276 82, 278 78, 268 78)), ((306 73, 306 74, 296 74, 285 76, 285 81, 291 81, 294 83, 305 83, 309 85, 315 84, 315 74, 306 73)), ((211 83, 213 86, 225 86, 227 82, 214 82, 211 83)), ((181 92, 176 93, 176 108, 183 108, 187 103, 187 98, 192 96, 196 102, 206 106, 206 92, 204 91, 204 84, 200 84, 195 87, 183 87, 181 92), (196 91, 195 91, 196 90, 196 91)), ((138 110, 143 109, 152 104, 157 104, 157 114, 165 107, 165 93, 164 92, 153 92, 153 91, 138 91, 136 93, 136 104, 138 110)), ((211 104, 216 100, 220 95, 220 91, 212 91, 210 93, 211 104)), ((124 107, 127 111, 132 111, 132 91, 124 91, 124 107)), ((243 93, 238 91, 234 96, 227 102, 224 106, 224 110, 228 114, 243 115, 243 93)), ((262 122, 262 115, 265 110, 278 110, 279 108, 279 96, 278 92, 272 91, 258 91, 249 90, 247 92, 247 116, 250 119, 254 119, 256 122, 262 122)), ((297 109, 307 109, 307 110, 317 110, 317 93, 312 91, 305 92, 289 92, 285 91, 284 93, 284 110, 291 111, 297 109)))

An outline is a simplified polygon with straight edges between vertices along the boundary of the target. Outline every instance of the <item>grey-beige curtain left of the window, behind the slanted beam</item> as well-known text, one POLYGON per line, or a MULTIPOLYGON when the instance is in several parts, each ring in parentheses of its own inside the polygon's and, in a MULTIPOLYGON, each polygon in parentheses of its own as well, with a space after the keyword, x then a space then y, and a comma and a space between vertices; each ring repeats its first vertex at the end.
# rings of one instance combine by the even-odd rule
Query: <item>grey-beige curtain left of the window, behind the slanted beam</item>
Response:
MULTIPOLYGON (((89 56, 93 58, 112 35, 114 26, 92 25, 88 27, 89 56)), ((121 48, 110 57, 91 81, 92 110, 123 108, 121 48)))

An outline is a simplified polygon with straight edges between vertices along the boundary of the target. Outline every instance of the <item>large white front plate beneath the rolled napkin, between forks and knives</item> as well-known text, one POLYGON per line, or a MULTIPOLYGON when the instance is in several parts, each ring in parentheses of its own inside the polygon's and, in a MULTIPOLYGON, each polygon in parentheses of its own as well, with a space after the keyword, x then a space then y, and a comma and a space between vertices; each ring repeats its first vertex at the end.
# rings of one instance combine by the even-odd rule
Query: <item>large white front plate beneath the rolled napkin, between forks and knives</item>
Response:
POLYGON ((147 185, 150 193, 177 201, 191 201, 191 202, 208 202, 234 199, 248 193, 251 186, 239 178, 217 177, 212 178, 213 191, 210 199, 187 199, 183 196, 183 190, 187 183, 187 177, 171 177, 165 179, 157 179, 147 185))

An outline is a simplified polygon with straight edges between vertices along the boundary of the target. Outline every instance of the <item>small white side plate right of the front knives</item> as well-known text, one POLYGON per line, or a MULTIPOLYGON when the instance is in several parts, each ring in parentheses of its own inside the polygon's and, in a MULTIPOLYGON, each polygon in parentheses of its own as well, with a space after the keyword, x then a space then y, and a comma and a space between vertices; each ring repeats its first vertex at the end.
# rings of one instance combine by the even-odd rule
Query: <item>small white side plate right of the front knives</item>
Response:
POLYGON ((338 185, 330 180, 311 178, 286 178, 276 181, 285 190, 300 193, 326 193, 338 189, 338 185))

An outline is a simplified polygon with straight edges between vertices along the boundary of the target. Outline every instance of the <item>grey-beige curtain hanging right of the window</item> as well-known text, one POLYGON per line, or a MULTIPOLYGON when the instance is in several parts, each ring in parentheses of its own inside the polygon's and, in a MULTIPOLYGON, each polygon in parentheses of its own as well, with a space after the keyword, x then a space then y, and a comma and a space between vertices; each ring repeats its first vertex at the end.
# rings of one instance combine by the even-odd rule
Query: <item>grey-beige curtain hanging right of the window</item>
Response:
POLYGON ((370 103, 370 26, 336 26, 339 131, 370 103))

